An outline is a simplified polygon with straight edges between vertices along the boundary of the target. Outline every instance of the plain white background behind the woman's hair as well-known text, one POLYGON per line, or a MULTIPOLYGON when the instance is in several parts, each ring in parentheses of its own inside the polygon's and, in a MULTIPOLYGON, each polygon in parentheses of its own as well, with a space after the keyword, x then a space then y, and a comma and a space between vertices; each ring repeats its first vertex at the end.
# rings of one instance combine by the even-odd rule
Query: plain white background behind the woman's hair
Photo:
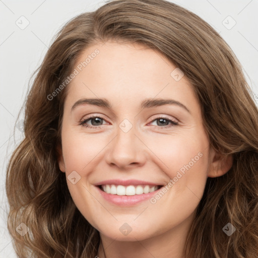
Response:
MULTIPOLYGON (((253 90, 254 99, 258 101, 258 95, 255 96, 258 94, 258 1, 170 2, 196 13, 220 33, 241 62, 247 82, 253 90), (228 16, 233 20, 227 18, 228 16), (236 25, 230 30, 223 25, 228 23, 226 26, 231 26, 234 21, 236 25)), ((104 1, 89 0, 0 0, 0 258, 17 257, 6 226, 8 203, 5 179, 10 155, 23 137, 14 125, 29 89, 29 79, 41 63, 52 37, 61 26, 74 16, 94 11, 103 4, 104 1), (16 22, 25 24, 26 20, 20 18, 21 16, 29 21, 29 25, 23 30, 16 25, 16 22)))

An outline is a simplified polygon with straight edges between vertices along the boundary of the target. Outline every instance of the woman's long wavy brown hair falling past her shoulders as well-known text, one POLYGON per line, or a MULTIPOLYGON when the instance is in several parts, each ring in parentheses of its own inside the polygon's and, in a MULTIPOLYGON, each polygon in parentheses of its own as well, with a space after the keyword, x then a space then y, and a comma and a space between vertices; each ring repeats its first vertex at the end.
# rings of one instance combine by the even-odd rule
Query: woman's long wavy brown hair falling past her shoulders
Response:
MULTIPOLYGON (((8 230, 19 257, 89 257, 99 232, 75 206, 57 164, 67 88, 51 95, 96 42, 141 43, 158 50, 191 82, 210 146, 233 156, 231 169, 208 178, 185 245, 194 258, 258 257, 258 110, 236 56, 197 15, 163 0, 118 0, 69 21, 35 72, 25 101, 24 140, 11 156, 8 230), (53 95, 52 95, 53 96, 53 95), (16 228, 24 223, 24 236, 16 228), (231 223, 228 236, 223 227, 231 223)), ((99 57, 101 53, 99 54, 99 57)))

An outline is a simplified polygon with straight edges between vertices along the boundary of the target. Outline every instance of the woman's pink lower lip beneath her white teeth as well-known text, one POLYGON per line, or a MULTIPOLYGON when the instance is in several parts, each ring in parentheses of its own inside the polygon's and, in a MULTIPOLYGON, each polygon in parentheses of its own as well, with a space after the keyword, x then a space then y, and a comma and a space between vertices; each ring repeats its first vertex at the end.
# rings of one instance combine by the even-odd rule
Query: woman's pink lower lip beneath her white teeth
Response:
POLYGON ((143 193, 142 195, 134 195, 134 196, 118 196, 118 195, 111 195, 110 193, 106 193, 102 191, 98 186, 95 186, 99 191, 100 195, 107 200, 108 202, 119 205, 119 206, 133 206, 140 202, 149 200, 151 197, 156 195, 161 188, 157 189, 156 191, 143 193))

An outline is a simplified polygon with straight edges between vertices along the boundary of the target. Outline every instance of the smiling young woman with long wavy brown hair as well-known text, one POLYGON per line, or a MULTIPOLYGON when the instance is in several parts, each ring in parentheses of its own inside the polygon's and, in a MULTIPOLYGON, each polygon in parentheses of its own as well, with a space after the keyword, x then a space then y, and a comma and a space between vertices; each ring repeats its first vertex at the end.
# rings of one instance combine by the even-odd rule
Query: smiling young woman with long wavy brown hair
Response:
POLYGON ((197 15, 118 0, 75 17, 38 70, 7 171, 17 254, 258 257, 257 115, 197 15))

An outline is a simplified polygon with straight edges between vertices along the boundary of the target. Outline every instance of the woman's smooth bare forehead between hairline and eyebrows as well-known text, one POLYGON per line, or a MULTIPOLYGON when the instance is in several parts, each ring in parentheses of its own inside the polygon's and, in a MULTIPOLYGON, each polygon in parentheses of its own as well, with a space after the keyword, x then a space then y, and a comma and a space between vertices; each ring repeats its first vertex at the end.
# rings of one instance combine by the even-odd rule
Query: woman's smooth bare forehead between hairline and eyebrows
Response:
POLYGON ((130 108, 146 98, 171 97, 198 108, 193 89, 180 70, 162 53, 141 44, 108 41, 91 45, 74 69, 78 75, 68 87, 69 102, 83 97, 106 98, 111 104, 119 102, 130 108))

